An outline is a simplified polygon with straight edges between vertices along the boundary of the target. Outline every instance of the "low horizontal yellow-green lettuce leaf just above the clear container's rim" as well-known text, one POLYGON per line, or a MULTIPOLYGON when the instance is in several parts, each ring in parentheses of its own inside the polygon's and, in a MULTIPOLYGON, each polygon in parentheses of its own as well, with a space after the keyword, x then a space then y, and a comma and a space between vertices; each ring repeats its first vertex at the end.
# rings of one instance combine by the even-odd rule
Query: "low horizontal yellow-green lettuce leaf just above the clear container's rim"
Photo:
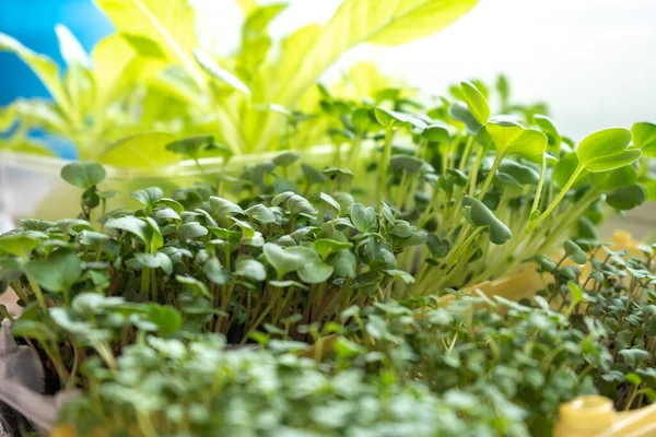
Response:
POLYGON ((98 156, 98 161, 118 166, 159 168, 179 161, 179 156, 166 150, 166 144, 174 140, 172 133, 137 133, 114 142, 98 156))

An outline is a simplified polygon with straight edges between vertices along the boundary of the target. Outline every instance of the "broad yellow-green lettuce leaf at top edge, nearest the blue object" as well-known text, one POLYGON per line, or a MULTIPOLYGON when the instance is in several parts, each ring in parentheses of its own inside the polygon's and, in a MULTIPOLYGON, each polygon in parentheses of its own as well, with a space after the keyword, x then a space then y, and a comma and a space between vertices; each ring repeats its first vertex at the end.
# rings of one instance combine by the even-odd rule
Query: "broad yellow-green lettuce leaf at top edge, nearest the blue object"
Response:
POLYGON ((206 83, 194 61, 196 13, 187 0, 95 0, 119 33, 156 42, 171 62, 185 67, 199 84, 206 83))

